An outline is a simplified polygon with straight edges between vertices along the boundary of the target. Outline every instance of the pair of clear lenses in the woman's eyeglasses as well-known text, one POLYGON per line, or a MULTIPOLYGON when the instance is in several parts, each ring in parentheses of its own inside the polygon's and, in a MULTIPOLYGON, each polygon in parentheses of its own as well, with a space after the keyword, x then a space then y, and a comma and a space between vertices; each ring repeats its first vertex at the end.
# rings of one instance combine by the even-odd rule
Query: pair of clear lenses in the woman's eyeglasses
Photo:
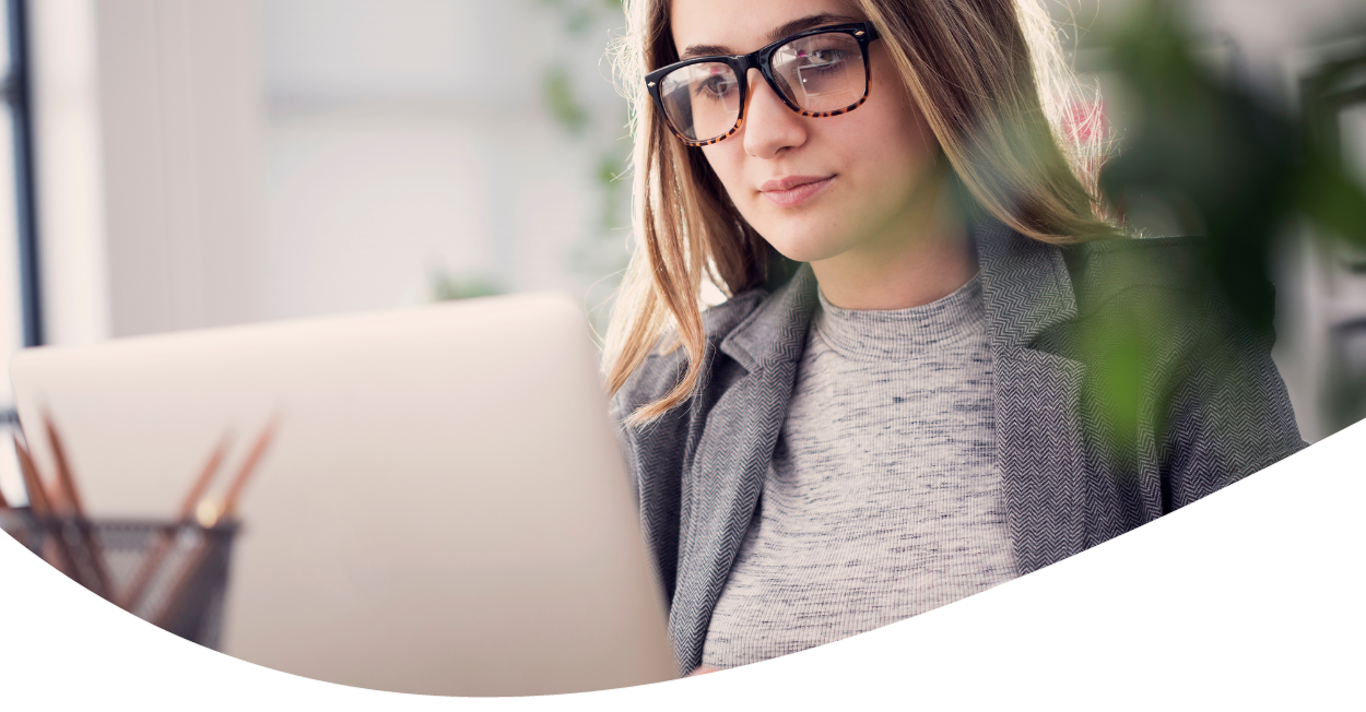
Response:
MULTIPOLYGON (((807 113, 847 109, 867 89, 863 52, 846 33, 800 37, 773 52, 770 61, 784 98, 807 113)), ((739 80, 721 61, 669 72, 660 82, 660 98, 669 123, 688 140, 724 136, 740 119, 739 80)))

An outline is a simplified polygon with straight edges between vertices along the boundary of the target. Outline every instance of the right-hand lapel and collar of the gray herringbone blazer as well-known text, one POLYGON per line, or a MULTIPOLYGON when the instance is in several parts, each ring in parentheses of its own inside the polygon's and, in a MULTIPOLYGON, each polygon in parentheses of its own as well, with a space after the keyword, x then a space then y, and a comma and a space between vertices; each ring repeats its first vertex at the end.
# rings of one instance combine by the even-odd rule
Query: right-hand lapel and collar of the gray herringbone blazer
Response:
POLYGON ((1076 316, 1061 250, 996 224, 978 233, 996 367, 996 461, 1015 561, 1026 574, 1086 548, 1085 367, 1031 348, 1076 316))

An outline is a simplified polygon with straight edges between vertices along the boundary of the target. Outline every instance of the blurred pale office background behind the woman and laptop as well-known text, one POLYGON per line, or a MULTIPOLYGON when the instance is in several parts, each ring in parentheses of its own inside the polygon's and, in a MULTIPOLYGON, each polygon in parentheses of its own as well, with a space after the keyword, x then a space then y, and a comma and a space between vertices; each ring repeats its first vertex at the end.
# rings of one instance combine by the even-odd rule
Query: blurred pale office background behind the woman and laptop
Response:
MULTIPOLYGON (((1131 4, 1050 3, 1102 83, 1090 29, 1131 4)), ((4 7, 0 366, 26 344, 492 292, 563 289, 591 310, 626 262, 626 108, 604 59, 616 0, 4 7)), ((1220 71, 1287 112, 1362 53, 1359 35, 1333 40, 1359 0, 1184 7, 1220 71)), ((1329 98, 1366 181, 1363 87, 1329 98)), ((1123 94, 1106 101, 1121 130, 1123 94)), ((1187 228, 1130 207, 1150 233, 1187 228)), ((1290 225, 1277 265, 1276 357, 1315 441, 1351 416, 1332 412, 1337 381, 1366 371, 1366 259, 1290 225)), ((0 379, 0 412, 8 398, 0 379)), ((18 491, 4 453, 0 487, 18 491)))

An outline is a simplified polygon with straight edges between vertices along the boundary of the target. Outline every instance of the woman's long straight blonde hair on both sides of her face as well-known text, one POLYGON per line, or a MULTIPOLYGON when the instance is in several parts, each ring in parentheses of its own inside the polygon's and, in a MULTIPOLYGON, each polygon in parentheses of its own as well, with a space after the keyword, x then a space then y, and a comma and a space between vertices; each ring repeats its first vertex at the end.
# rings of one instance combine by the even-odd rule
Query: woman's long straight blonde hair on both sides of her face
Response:
MULTIPOLYGON (((1078 102, 1079 85, 1038 0, 852 1, 877 26, 977 210, 1045 243, 1116 235, 1096 190, 1100 112, 1094 101, 1078 102), (1093 108, 1078 115, 1078 106, 1093 108)), ((608 389, 615 394, 661 342, 687 353, 679 382, 628 416, 642 424, 686 401, 701 379, 703 274, 736 295, 777 277, 783 261, 645 93, 646 72, 678 61, 668 0, 624 5, 615 64, 631 102, 638 244, 608 326, 608 389)))

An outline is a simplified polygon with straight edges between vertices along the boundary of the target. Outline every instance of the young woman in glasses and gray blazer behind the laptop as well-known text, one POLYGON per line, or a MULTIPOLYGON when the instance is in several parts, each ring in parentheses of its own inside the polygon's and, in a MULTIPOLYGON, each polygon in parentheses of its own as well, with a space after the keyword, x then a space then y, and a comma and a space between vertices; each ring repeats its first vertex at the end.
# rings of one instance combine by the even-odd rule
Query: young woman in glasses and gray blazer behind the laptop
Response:
POLYGON ((1187 243, 1097 217, 1031 1, 627 3, 641 248, 607 370, 683 671, 943 606, 1303 446, 1187 243))

